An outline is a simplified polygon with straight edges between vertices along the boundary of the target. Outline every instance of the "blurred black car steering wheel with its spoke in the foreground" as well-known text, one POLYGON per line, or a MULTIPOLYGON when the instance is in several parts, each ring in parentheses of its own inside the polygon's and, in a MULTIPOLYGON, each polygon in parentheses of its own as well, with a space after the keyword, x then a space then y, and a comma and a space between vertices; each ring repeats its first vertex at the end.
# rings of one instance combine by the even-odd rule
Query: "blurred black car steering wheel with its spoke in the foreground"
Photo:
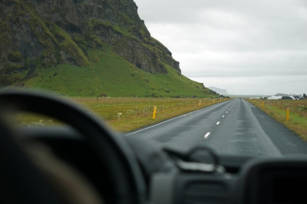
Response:
POLYGON ((51 198, 48 185, 43 183, 35 165, 14 139, 14 128, 10 129, 5 124, 1 113, 7 110, 44 114, 72 126, 82 135, 84 145, 96 154, 97 162, 103 162, 107 168, 105 172, 112 182, 110 188, 115 195, 114 203, 145 203, 146 185, 135 155, 124 138, 108 128, 101 119, 53 93, 2 91, 0 104, 0 160, 3 166, 0 168, 0 192, 3 192, 2 195, 0 193, 0 203, 10 203, 10 195, 14 194, 26 198, 16 203, 57 202, 51 198))

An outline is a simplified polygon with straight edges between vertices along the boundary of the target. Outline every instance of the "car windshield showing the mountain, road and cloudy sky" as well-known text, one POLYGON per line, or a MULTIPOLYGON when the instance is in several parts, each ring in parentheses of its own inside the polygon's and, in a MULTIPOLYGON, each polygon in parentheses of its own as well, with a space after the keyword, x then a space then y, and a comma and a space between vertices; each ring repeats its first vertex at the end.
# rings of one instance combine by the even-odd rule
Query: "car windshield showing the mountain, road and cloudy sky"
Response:
POLYGON ((307 154, 305 0, 0 1, 0 32, 1 90, 56 93, 168 148, 307 154))

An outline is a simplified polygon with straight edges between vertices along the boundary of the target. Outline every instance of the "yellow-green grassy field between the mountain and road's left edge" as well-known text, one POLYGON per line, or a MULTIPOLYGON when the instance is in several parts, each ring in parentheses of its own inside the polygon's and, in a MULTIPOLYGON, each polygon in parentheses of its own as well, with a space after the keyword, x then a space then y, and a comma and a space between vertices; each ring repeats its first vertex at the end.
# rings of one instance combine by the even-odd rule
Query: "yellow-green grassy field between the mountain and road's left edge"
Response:
MULTIPOLYGON (((119 132, 132 131, 184 113, 190 113, 228 99, 67 97, 90 113, 95 113, 119 132), (156 106, 155 119, 153 109, 156 106)), ((45 126, 59 122, 41 115, 18 114, 23 125, 45 126)))

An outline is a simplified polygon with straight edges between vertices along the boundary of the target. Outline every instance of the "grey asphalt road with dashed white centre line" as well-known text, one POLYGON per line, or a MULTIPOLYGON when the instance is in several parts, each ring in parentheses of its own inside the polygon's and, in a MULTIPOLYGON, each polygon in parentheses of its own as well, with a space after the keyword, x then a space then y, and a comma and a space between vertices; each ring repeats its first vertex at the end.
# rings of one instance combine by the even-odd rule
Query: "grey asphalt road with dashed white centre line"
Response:
POLYGON ((207 146, 227 155, 307 155, 307 142, 243 99, 218 103, 125 136, 183 151, 207 146))

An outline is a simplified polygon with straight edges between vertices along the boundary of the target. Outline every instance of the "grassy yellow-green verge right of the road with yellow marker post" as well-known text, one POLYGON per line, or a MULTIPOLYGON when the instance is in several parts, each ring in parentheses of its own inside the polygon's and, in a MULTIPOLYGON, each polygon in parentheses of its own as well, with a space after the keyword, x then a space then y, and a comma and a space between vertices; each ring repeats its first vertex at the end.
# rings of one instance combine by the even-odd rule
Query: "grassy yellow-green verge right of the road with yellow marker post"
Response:
POLYGON ((307 141, 307 100, 250 99, 249 102, 307 141), (287 108, 289 108, 288 121, 287 108))

